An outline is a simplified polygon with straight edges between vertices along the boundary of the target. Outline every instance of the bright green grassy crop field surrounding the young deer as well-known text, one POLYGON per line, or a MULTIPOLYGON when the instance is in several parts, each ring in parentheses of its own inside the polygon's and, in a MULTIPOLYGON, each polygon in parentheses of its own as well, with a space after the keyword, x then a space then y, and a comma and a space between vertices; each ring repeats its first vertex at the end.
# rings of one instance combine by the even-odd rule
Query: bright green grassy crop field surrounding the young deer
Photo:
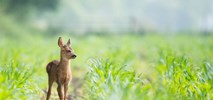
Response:
MULTIPOLYGON (((45 99, 45 67, 60 57, 58 36, 0 37, 0 100, 45 99)), ((71 39, 77 54, 71 60, 71 99, 213 99, 211 35, 60 36, 71 39)))

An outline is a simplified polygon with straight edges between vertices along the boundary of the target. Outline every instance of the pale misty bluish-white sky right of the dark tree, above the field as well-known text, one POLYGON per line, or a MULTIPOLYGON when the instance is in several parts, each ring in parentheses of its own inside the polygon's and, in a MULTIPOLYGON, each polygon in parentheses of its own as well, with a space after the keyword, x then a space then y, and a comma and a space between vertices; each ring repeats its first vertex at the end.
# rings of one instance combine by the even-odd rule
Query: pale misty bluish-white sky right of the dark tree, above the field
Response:
POLYGON ((62 0, 35 26, 63 31, 213 31, 212 0, 62 0))

